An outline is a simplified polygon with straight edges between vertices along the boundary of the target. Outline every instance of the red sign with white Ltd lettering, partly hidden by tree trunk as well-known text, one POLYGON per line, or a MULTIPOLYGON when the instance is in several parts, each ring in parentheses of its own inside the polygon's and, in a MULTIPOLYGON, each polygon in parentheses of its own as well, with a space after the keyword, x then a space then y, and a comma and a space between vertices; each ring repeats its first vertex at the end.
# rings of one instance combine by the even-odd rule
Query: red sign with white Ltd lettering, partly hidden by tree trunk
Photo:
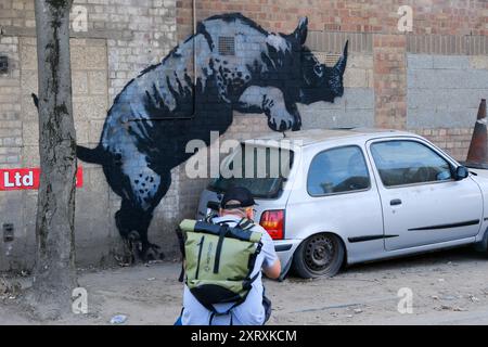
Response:
MULTIPOLYGON (((39 168, 0 169, 0 191, 39 189, 39 168)), ((84 185, 84 169, 78 166, 76 187, 84 185)))

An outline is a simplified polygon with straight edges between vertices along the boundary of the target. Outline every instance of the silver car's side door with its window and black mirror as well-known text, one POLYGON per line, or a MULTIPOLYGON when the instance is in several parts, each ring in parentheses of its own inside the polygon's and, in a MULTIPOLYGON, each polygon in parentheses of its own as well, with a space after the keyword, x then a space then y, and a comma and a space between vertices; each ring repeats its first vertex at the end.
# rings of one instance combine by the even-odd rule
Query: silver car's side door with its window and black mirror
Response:
POLYGON ((368 143, 383 208, 387 250, 475 236, 483 221, 479 187, 453 179, 453 162, 416 138, 368 143))

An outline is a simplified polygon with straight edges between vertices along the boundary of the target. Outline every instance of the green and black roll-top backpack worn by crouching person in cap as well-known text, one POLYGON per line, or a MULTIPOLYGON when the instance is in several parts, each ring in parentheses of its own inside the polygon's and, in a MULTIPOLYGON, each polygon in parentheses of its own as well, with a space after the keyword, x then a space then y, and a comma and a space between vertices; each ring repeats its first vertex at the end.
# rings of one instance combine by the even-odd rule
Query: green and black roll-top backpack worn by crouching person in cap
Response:
POLYGON ((249 229, 243 218, 230 228, 226 222, 184 219, 180 223, 185 283, 195 298, 214 313, 226 314, 242 304, 259 272, 251 278, 260 253, 261 233, 249 229), (227 312, 216 312, 215 304, 235 303, 227 312))

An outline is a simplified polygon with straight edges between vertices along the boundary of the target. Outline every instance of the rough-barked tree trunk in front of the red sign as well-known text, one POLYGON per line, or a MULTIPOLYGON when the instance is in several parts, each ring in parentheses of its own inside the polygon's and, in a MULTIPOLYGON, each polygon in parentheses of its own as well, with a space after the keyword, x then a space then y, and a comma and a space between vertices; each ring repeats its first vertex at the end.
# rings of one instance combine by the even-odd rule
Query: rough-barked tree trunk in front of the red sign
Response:
POLYGON ((34 299, 43 314, 70 310, 75 268, 76 133, 72 105, 69 11, 73 0, 36 0, 40 187, 34 299), (48 312, 46 312, 48 310, 48 312))

